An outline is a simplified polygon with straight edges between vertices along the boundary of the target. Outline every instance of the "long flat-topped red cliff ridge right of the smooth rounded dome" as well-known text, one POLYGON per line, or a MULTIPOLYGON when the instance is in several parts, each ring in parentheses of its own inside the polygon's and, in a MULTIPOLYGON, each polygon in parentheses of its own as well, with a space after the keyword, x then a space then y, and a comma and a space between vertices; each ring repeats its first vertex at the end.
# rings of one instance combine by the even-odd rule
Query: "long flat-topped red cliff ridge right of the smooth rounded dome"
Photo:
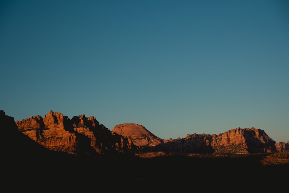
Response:
POLYGON ((183 139, 164 140, 169 151, 219 152, 219 153, 260 153, 275 152, 275 141, 265 132, 256 128, 236 128, 219 135, 192 134, 183 139))

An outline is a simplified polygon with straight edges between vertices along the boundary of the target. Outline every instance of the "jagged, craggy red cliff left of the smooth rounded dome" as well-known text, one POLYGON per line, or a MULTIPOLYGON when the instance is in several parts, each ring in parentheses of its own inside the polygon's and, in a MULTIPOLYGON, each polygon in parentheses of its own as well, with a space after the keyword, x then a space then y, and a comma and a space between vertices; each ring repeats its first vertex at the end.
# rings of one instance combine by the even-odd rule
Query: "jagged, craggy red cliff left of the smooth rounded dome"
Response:
POLYGON ((39 115, 16 121, 18 129, 39 144, 49 148, 67 151, 70 147, 80 146, 102 150, 131 148, 128 139, 112 134, 105 126, 100 125, 95 117, 85 115, 69 119, 62 113, 50 111, 43 118, 39 115))

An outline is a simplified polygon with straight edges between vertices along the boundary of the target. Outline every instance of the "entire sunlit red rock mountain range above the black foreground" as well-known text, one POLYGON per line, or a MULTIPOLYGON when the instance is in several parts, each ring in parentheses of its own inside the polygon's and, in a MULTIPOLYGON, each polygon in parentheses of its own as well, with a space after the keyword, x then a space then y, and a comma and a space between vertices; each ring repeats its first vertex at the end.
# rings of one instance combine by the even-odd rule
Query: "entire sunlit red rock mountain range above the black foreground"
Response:
POLYGON ((53 111, 43 118, 37 115, 16 121, 16 125, 42 146, 71 154, 108 151, 250 154, 289 150, 289 141, 276 143, 264 130, 256 128, 235 128, 218 135, 194 133, 185 138, 160 139, 135 123, 119 124, 110 131, 95 117, 79 115, 69 119, 53 111))

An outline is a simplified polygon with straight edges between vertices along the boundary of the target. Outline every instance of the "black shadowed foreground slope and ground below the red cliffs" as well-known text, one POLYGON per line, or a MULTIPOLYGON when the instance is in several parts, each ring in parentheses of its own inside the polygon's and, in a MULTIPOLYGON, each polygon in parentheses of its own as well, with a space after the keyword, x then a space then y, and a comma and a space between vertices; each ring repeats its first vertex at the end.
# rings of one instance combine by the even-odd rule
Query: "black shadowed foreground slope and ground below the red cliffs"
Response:
POLYGON ((17 127, 3 129, 11 126, 5 121, 1 192, 286 192, 289 186, 289 164, 264 166, 261 154, 76 157, 40 146, 17 127))

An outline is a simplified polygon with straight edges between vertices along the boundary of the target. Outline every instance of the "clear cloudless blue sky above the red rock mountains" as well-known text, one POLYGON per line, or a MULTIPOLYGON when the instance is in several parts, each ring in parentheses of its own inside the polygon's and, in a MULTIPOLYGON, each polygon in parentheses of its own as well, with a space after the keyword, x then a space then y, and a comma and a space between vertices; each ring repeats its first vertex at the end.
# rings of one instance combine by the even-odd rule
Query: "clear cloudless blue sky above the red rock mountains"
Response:
POLYGON ((289 141, 289 1, 0 1, 0 109, 162 139, 289 141))

